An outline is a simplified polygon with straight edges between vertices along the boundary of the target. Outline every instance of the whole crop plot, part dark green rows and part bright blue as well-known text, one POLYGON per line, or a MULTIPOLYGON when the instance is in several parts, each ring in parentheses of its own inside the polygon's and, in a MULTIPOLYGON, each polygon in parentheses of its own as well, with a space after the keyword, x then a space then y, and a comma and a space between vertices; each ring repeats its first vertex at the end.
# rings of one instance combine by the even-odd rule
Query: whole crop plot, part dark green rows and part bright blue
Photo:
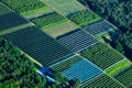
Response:
POLYGON ((54 72, 62 72, 68 79, 79 78, 85 82, 102 72, 94 64, 79 56, 74 56, 52 67, 54 72))

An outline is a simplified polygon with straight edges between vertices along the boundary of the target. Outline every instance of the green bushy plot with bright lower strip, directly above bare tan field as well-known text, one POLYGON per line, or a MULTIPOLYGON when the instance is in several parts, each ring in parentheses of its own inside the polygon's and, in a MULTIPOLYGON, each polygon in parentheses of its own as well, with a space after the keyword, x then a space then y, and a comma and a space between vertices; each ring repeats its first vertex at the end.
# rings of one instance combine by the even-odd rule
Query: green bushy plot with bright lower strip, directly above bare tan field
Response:
POLYGON ((52 24, 52 23, 55 23, 62 20, 65 20, 65 18, 54 12, 54 13, 50 13, 50 14, 36 18, 32 20, 32 22, 40 28, 44 28, 45 25, 48 25, 48 24, 52 24))

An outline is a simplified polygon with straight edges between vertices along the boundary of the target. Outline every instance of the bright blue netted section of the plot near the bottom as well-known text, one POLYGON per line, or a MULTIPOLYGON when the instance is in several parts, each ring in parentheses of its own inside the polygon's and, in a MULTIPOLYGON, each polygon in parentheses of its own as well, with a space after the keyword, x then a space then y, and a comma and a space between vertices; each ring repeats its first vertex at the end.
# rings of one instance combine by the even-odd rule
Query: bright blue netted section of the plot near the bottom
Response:
POLYGON ((62 72, 68 79, 79 78, 81 82, 101 74, 101 70, 87 59, 81 59, 70 65, 70 68, 62 72))

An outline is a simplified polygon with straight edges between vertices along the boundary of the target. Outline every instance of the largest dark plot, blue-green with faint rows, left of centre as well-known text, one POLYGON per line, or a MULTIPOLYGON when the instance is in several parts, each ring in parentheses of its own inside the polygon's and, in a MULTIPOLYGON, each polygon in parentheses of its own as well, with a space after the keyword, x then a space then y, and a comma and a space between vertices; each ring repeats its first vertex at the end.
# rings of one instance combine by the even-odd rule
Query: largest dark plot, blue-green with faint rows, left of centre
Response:
POLYGON ((65 59, 63 58, 64 56, 70 54, 67 48, 35 26, 12 32, 4 35, 4 37, 12 41, 14 45, 19 46, 43 66, 50 66, 63 61, 65 59))

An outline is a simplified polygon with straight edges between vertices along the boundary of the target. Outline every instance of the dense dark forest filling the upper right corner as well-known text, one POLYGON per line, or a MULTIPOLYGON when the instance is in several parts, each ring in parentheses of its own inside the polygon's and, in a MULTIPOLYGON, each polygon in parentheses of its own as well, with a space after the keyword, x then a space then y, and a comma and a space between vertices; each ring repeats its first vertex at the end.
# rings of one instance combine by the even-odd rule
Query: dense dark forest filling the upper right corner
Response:
POLYGON ((118 26, 112 46, 132 59, 132 0, 78 0, 118 26))

